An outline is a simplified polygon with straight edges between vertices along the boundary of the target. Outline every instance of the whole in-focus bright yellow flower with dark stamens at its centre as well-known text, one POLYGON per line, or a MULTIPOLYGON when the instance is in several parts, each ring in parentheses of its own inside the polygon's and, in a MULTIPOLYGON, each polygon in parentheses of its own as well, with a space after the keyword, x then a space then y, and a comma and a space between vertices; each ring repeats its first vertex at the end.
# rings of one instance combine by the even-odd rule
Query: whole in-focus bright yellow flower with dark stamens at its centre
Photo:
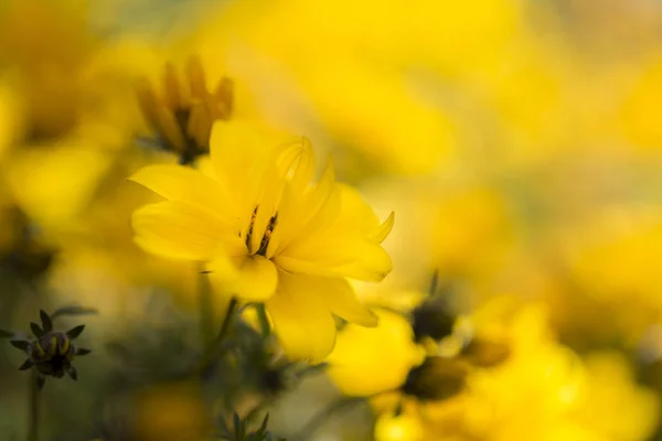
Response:
POLYGON ((311 184, 312 147, 279 144, 245 122, 217 122, 214 176, 181 165, 152 165, 132 180, 168 201, 134 214, 137 243, 164 257, 206 262, 218 290, 265 302, 291 358, 323 359, 333 348, 332 314, 365 326, 375 315, 345 278, 382 280, 392 268, 380 224, 329 163, 311 184), (284 147, 285 146, 285 147, 284 147))

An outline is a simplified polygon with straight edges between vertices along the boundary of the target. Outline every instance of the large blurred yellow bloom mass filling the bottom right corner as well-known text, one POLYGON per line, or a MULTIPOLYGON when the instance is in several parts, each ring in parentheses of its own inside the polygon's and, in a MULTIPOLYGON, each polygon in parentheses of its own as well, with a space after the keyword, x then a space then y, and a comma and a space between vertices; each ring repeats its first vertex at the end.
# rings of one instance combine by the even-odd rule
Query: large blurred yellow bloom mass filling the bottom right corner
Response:
POLYGON ((658 401, 633 384, 623 357, 584 363, 555 341, 544 305, 490 303, 476 318, 477 333, 505 338, 510 357, 476 369, 462 395, 421 407, 426 430, 444 440, 648 439, 658 401))

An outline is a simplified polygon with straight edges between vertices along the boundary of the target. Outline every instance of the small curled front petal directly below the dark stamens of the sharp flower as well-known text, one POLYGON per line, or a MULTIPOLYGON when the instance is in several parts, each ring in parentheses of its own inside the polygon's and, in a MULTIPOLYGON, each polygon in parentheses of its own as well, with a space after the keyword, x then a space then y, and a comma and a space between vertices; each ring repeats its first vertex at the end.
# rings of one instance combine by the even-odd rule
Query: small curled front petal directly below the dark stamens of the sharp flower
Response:
POLYGON ((217 290, 256 302, 268 300, 276 293, 278 271, 270 260, 261 256, 239 256, 233 257, 232 261, 236 269, 234 275, 228 271, 210 275, 217 290))

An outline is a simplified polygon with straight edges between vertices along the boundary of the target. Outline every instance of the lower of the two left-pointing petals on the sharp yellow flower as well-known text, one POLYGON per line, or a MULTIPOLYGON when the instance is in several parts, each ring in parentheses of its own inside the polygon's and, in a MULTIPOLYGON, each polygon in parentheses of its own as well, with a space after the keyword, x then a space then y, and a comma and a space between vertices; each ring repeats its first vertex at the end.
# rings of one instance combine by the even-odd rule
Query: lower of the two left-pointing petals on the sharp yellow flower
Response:
POLYGON ((140 247, 173 259, 211 260, 227 236, 214 213, 178 201, 137 209, 131 224, 140 247))

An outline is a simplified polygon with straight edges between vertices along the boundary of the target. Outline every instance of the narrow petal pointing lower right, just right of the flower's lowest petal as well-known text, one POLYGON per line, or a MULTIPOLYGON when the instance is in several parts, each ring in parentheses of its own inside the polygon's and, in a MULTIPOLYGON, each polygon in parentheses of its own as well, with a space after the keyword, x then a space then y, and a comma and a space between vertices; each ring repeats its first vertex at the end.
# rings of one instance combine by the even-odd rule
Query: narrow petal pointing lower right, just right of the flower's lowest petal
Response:
POLYGON ((307 287, 309 295, 317 297, 335 315, 361 326, 377 325, 377 316, 359 301, 345 279, 306 275, 296 277, 307 287))

